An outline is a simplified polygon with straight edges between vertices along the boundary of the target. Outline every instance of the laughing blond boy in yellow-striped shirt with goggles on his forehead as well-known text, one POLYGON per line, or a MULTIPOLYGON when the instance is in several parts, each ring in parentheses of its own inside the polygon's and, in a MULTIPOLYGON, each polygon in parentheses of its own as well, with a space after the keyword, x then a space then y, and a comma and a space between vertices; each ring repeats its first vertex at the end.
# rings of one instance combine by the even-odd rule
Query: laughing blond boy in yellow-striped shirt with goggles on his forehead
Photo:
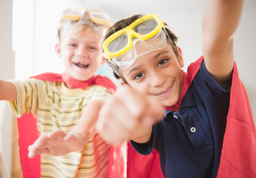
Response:
MULTIPOLYGON (((36 118, 41 136, 29 147, 29 157, 42 154, 42 178, 105 178, 111 174, 112 147, 96 134, 95 123, 104 100, 116 87, 109 79, 94 75, 105 61, 101 43, 109 25, 104 12, 64 10, 55 47, 63 59, 64 73, 45 73, 23 82, 0 81, 0 100, 8 100, 17 117, 31 113, 36 118)), ((23 176, 35 178, 32 172, 23 176)))

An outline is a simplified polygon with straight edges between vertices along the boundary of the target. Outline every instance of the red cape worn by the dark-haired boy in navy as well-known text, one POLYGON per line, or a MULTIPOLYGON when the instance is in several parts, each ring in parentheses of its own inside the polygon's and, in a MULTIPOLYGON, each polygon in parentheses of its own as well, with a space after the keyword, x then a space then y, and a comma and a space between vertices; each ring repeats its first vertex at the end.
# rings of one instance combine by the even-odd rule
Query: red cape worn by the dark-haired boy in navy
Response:
MULTIPOLYGON (((178 102, 166 107, 179 110, 183 96, 200 68, 203 56, 183 72, 182 91, 178 102)), ((154 149, 148 156, 137 153, 130 142, 127 145, 127 178, 164 178, 159 154, 154 149)), ((227 116, 220 166, 217 178, 256 178, 256 128, 246 90, 239 79, 234 63, 230 107, 227 116)))

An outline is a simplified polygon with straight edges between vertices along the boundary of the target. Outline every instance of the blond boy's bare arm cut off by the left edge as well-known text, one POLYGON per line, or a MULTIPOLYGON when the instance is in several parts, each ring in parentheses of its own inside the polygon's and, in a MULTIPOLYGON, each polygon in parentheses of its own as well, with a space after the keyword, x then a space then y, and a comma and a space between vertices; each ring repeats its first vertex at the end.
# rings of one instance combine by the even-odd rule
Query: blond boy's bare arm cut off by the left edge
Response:
POLYGON ((0 80, 0 100, 17 100, 17 90, 14 84, 0 80))

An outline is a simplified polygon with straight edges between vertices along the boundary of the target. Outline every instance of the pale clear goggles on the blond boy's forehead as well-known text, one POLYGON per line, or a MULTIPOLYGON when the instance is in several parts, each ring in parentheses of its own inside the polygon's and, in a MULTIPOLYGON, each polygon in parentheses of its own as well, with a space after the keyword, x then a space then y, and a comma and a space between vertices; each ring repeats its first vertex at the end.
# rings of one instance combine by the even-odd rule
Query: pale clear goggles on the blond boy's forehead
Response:
POLYGON ((87 24, 101 36, 110 27, 110 17, 106 13, 87 8, 67 8, 62 11, 60 21, 64 21, 63 29, 87 24))

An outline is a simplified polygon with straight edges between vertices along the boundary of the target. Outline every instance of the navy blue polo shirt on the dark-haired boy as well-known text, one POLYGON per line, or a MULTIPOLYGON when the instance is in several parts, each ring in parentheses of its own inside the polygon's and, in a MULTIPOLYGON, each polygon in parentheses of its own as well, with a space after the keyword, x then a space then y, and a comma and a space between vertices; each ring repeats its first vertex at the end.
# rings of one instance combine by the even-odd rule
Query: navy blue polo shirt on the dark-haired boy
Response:
POLYGON ((216 178, 229 101, 230 89, 214 80, 202 60, 180 110, 166 111, 166 118, 153 126, 151 143, 131 144, 142 155, 155 148, 165 178, 216 178))

